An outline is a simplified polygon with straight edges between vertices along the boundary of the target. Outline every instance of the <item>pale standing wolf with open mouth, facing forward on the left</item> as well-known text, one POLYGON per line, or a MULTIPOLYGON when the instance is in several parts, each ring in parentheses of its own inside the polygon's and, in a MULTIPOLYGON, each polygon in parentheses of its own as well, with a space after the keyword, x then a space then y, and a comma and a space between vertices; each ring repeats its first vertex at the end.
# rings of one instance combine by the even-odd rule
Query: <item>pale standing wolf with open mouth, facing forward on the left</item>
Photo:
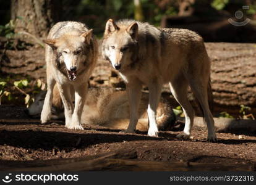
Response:
POLYGON ((68 21, 56 23, 44 43, 47 44, 45 60, 48 88, 41 123, 51 118, 53 88, 56 83, 64 104, 65 126, 83 130, 80 117, 87 95, 88 78, 97 60, 97 41, 92 30, 88 30, 85 24, 68 21))

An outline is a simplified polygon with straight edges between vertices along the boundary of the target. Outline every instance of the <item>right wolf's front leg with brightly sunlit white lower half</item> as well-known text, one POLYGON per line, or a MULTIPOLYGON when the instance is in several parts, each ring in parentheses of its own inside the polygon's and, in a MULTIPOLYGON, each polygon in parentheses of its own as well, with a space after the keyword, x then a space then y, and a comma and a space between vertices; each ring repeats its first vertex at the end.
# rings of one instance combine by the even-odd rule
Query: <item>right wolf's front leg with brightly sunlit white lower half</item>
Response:
POLYGON ((161 96, 161 83, 151 83, 148 86, 149 102, 148 102, 148 136, 158 136, 158 127, 156 122, 156 109, 161 96))

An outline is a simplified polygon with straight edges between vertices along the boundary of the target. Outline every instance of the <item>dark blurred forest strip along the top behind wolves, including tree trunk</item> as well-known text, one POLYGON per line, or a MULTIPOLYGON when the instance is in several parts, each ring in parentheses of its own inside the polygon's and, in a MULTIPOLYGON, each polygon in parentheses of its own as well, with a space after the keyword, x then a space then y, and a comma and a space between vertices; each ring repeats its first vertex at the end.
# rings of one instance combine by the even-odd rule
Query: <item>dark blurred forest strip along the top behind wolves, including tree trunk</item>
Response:
MULTIPOLYGON (((161 27, 176 27, 182 23, 186 27, 186 23, 189 25, 192 22, 210 23, 227 20, 229 17, 234 17, 237 10, 241 10, 244 13, 243 19, 249 18, 252 24, 256 19, 254 0, 1 0, 0 2, 2 27, 13 20, 18 26, 33 23, 36 25, 34 27, 38 27, 38 30, 41 28, 46 33, 54 23, 61 20, 85 22, 88 27, 94 28, 96 35, 101 36, 109 18, 137 19, 161 27), (242 9, 243 6, 249 6, 249 9, 242 9), (33 15, 32 12, 36 14, 33 15)), ((22 29, 36 36, 45 36, 45 33, 38 35, 30 28, 22 29)), ((4 34, 4 31, 1 31, 1 36, 5 36, 4 34)))

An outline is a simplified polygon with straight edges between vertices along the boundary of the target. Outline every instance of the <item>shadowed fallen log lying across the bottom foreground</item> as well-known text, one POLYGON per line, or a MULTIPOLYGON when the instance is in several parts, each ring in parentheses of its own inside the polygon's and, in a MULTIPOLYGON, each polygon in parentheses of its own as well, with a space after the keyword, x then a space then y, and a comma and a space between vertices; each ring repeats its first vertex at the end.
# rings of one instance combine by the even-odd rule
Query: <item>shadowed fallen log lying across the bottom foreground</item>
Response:
POLYGON ((27 162, 2 162, 0 171, 253 171, 253 165, 220 165, 196 162, 132 160, 134 151, 120 150, 100 157, 82 157, 27 162))

